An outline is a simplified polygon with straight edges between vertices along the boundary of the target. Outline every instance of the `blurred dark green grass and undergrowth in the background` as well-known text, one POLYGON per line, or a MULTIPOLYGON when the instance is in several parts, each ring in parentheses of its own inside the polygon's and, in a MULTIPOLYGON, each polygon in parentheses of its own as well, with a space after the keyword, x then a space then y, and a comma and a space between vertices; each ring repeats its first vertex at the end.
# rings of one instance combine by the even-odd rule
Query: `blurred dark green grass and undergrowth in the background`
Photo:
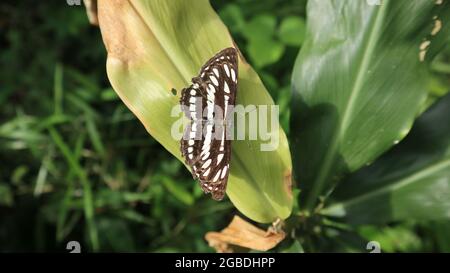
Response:
MULTIPOLYGON (((306 0, 211 2, 289 134, 306 0)), ((239 213, 205 196, 119 100, 84 7, 2 1, 0 29, 0 251, 65 251, 77 240, 82 251, 212 252, 204 234, 239 213)), ((440 96, 450 68, 441 62, 436 71, 431 89, 440 96)), ((450 251, 449 228, 402 223, 359 234, 376 237, 383 251, 450 251)), ((275 251, 293 248, 286 242, 275 251)), ((356 251, 311 251, 336 250, 356 251)))

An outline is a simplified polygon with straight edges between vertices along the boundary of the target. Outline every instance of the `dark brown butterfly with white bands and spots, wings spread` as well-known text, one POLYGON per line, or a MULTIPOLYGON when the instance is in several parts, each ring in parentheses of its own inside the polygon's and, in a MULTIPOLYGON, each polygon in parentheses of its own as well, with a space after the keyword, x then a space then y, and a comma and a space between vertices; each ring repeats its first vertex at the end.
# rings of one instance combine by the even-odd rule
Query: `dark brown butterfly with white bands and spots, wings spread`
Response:
POLYGON ((192 85, 181 91, 180 105, 190 122, 181 154, 202 190, 222 200, 230 172, 230 111, 238 87, 238 54, 226 48, 209 59, 192 85))

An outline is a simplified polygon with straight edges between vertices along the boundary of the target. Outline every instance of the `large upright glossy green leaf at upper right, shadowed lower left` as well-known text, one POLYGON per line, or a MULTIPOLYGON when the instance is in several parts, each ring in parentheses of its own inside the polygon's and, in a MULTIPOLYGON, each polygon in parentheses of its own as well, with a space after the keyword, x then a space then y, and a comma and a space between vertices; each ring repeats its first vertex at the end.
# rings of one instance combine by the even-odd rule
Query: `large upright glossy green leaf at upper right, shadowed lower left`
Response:
MULTIPOLYGON (((447 1, 446 1, 447 2, 447 1)), ((428 0, 311 0, 293 73, 296 179, 309 209, 342 174, 372 162, 409 132, 426 97, 436 9, 428 0)))

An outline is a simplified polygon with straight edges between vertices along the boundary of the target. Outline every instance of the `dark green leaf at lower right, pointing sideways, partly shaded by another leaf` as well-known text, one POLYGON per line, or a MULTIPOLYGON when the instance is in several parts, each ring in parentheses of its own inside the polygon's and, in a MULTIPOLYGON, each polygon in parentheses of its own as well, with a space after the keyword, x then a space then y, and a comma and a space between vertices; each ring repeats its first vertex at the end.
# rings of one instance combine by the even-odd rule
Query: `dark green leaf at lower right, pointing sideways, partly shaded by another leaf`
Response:
POLYGON ((325 208, 351 223, 450 218, 450 95, 398 146, 341 183, 325 208))

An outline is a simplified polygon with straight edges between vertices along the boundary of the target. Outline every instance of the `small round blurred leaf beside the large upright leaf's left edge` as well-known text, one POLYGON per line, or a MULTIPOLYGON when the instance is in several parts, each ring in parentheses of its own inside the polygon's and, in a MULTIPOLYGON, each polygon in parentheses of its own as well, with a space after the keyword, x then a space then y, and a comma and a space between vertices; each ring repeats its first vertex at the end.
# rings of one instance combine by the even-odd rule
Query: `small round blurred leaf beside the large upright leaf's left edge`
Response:
POLYGON ((305 39, 306 25, 301 17, 289 16, 283 19, 278 30, 280 40, 286 45, 300 46, 305 39))

